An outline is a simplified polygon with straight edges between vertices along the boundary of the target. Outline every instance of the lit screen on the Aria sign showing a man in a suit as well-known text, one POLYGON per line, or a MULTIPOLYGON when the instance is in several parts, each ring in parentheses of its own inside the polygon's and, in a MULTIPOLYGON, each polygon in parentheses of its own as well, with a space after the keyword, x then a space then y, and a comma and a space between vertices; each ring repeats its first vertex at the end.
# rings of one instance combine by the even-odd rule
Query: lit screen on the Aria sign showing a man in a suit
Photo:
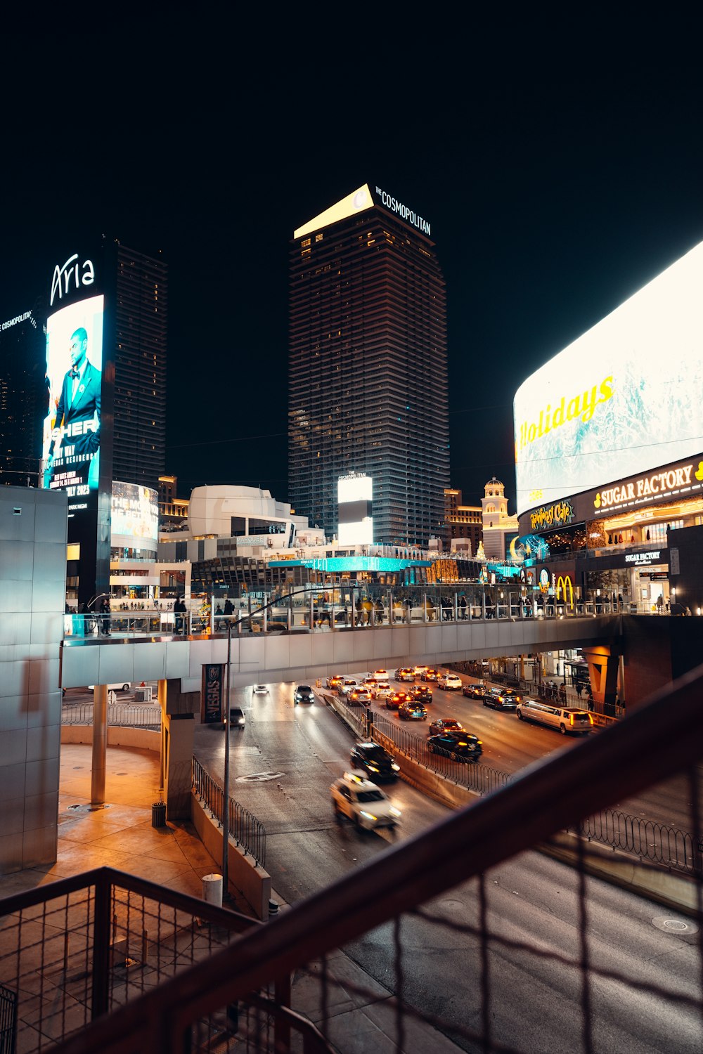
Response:
POLYGON ((65 490, 69 515, 94 508, 100 465, 103 297, 91 296, 46 319, 48 413, 42 486, 65 490))

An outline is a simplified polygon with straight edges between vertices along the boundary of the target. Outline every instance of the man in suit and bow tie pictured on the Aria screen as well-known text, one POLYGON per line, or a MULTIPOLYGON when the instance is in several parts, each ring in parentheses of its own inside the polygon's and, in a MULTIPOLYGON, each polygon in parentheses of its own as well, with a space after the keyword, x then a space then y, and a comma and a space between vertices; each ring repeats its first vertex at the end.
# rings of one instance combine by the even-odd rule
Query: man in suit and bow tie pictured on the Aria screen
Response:
POLYGON ((100 385, 102 374, 87 359, 87 331, 79 326, 71 336, 71 369, 61 386, 55 430, 48 448, 47 470, 73 470, 87 482, 91 462, 100 446, 100 385))

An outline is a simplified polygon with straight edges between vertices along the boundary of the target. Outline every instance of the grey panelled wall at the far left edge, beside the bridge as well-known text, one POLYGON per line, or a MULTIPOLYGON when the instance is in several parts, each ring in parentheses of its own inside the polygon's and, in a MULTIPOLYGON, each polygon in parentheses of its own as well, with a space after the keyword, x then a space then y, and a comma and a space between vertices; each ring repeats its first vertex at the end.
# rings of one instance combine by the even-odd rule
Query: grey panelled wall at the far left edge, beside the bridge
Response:
POLYGON ((67 523, 65 494, 0 489, 3 875, 56 860, 67 523))

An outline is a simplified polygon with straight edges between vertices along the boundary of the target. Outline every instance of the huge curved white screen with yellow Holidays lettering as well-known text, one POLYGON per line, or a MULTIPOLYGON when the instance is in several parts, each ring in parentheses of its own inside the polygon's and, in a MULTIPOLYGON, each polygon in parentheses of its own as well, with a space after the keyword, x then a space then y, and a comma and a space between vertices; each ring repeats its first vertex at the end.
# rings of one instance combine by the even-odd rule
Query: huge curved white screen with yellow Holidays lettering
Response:
POLYGON ((703 242, 514 397, 518 513, 700 450, 703 242))

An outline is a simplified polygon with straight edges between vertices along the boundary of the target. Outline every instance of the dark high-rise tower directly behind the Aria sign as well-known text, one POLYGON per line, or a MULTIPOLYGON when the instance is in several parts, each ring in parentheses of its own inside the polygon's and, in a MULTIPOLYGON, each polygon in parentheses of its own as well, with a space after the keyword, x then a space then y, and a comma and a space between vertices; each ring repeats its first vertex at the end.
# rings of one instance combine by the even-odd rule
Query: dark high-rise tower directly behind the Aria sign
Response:
POLYGON ((116 245, 113 479, 158 489, 165 468, 165 262, 116 245))

